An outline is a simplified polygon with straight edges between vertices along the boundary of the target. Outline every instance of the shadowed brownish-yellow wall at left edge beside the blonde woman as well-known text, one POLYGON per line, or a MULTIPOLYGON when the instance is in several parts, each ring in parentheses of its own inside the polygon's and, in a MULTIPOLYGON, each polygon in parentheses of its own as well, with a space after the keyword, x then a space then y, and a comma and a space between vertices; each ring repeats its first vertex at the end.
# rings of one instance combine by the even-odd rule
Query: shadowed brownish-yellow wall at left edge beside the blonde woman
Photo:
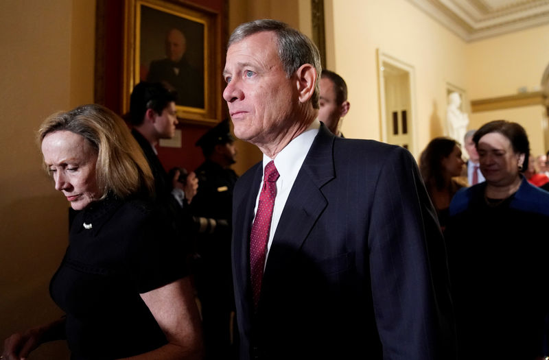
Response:
MULTIPOLYGON (((34 136, 52 112, 93 101, 94 16, 94 0, 0 1, 0 339, 61 314, 48 285, 67 246, 67 201, 34 136)), ((66 348, 32 359, 68 359, 66 348)))

